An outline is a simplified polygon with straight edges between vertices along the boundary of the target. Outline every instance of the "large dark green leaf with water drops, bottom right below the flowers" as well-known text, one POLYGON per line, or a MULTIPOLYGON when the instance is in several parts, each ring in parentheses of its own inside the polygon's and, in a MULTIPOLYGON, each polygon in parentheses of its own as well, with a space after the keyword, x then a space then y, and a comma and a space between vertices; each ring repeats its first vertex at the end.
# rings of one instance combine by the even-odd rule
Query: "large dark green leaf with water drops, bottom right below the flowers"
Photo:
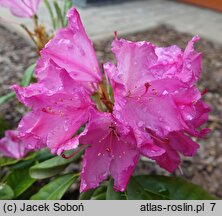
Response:
POLYGON ((200 186, 181 177, 137 176, 136 181, 145 191, 170 200, 212 200, 216 199, 200 186))

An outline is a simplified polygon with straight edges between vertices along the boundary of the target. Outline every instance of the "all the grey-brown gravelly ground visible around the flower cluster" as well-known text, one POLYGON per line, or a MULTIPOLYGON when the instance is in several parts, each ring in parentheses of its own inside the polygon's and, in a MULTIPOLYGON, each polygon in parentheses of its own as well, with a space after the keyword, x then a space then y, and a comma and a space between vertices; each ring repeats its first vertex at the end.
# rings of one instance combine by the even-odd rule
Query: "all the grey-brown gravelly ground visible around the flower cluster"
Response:
MULTIPOLYGON (((159 26, 125 35, 124 38, 133 41, 147 40, 159 46, 176 44, 184 48, 192 36, 167 26, 159 26)), ((114 59, 110 53, 111 40, 95 44, 101 63, 114 59)), ((198 154, 193 158, 184 158, 181 169, 185 178, 222 198, 222 46, 201 39, 197 49, 203 53, 203 72, 199 88, 208 89, 204 100, 212 108, 207 124, 212 131, 205 139, 198 140, 201 144, 198 154)), ((9 92, 9 86, 19 82, 24 69, 35 61, 36 54, 32 50, 22 38, 0 26, 0 95, 9 92)), ((0 107, 0 116, 12 126, 15 126, 23 112, 24 108, 19 106, 16 100, 0 107)), ((150 161, 141 161, 135 172, 169 175, 150 161)), ((181 172, 177 170, 173 175, 181 175, 181 172)))

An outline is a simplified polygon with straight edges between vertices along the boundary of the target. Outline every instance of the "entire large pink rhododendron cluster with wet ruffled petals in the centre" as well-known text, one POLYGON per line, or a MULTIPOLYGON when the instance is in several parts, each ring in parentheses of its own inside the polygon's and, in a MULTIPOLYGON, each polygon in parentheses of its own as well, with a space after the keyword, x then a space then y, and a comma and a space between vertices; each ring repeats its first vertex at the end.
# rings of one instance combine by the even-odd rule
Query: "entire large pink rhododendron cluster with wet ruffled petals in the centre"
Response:
POLYGON ((199 147, 190 137, 208 132, 200 126, 210 109, 195 85, 199 37, 184 51, 115 38, 117 64, 102 70, 76 9, 67 17, 68 26, 41 51, 37 82, 13 86, 31 109, 18 127, 25 147, 48 147, 59 155, 85 148, 81 192, 110 175, 115 190, 124 191, 141 155, 173 172, 180 154, 192 156, 199 147))

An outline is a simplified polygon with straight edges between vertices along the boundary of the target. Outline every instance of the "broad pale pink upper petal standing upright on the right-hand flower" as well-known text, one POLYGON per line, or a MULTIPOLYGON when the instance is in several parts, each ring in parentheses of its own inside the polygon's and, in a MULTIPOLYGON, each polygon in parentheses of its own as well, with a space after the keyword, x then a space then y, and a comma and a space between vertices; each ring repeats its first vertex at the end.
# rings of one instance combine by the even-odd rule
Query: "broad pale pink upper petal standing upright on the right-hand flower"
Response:
POLYGON ((156 62, 157 56, 151 43, 114 40, 112 51, 118 62, 118 70, 113 70, 115 74, 110 76, 116 82, 121 81, 126 92, 133 93, 135 89, 153 79, 149 67, 156 62))

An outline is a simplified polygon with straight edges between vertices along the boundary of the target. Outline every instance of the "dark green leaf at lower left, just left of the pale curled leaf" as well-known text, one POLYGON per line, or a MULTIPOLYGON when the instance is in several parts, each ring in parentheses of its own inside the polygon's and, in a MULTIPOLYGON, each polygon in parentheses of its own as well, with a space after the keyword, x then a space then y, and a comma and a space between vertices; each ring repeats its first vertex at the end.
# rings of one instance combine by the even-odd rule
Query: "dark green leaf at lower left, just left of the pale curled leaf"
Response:
POLYGON ((13 189, 15 197, 25 192, 35 181, 29 176, 27 168, 12 171, 6 179, 7 185, 13 189))

